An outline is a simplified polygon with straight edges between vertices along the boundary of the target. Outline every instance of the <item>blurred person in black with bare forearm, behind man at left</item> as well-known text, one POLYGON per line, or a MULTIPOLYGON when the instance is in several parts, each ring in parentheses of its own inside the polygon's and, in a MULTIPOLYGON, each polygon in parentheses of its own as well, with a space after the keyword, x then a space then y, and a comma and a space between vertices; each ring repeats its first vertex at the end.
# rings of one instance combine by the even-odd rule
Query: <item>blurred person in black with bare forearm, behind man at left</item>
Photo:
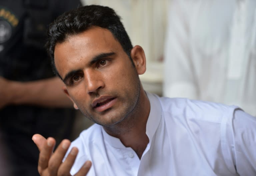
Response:
POLYGON ((47 25, 79 0, 0 1, 0 129, 13 176, 36 176, 34 133, 70 138, 72 102, 55 77, 44 45, 47 25))

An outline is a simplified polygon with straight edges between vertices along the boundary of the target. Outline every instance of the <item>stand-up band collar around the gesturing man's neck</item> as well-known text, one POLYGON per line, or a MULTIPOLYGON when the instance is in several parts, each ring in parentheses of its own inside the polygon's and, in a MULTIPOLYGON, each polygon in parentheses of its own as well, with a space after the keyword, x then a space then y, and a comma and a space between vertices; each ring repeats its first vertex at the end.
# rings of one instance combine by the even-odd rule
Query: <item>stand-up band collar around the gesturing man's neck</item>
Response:
MULTIPOLYGON (((148 121, 146 125, 146 134, 149 138, 149 142, 151 143, 162 117, 162 108, 156 95, 149 92, 146 92, 146 94, 150 102, 150 112, 149 112, 148 121)), ((108 142, 111 146, 116 148, 126 148, 122 144, 120 139, 109 135, 103 129, 103 127, 102 127, 102 133, 105 141, 108 142)))

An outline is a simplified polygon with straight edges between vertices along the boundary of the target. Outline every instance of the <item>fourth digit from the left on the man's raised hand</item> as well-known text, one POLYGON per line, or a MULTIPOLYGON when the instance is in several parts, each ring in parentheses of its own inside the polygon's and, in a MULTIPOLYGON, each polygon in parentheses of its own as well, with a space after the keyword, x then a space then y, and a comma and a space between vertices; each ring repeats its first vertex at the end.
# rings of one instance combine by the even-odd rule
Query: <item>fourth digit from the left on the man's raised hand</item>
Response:
POLYGON ((76 147, 73 147, 65 161, 60 165, 57 175, 65 175, 66 173, 70 173, 71 167, 75 162, 77 153, 78 149, 76 147))

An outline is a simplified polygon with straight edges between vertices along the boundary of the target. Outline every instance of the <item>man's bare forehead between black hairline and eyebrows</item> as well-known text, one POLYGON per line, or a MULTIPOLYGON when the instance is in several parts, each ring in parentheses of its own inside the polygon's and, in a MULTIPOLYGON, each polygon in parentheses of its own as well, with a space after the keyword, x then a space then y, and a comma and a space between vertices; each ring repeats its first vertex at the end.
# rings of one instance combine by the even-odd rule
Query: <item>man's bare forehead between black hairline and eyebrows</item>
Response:
POLYGON ((70 70, 81 69, 91 59, 101 53, 124 53, 120 43, 112 33, 100 27, 90 28, 80 34, 69 36, 58 43, 54 50, 54 61, 60 76, 70 70), (77 67, 80 64, 81 68, 77 67))

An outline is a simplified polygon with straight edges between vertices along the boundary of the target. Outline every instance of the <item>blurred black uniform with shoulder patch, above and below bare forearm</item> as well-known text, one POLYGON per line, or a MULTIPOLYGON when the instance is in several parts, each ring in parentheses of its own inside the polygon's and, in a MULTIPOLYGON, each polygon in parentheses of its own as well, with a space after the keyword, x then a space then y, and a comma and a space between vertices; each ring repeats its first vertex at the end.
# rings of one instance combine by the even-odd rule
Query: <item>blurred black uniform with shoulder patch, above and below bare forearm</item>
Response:
MULTIPOLYGON (((44 48, 47 26, 78 6, 79 0, 0 0, 0 76, 21 82, 54 77, 44 48)), ((0 109, 12 175, 39 175, 39 151, 32 135, 52 136, 57 142, 69 138, 74 115, 73 109, 28 105, 0 109)))

